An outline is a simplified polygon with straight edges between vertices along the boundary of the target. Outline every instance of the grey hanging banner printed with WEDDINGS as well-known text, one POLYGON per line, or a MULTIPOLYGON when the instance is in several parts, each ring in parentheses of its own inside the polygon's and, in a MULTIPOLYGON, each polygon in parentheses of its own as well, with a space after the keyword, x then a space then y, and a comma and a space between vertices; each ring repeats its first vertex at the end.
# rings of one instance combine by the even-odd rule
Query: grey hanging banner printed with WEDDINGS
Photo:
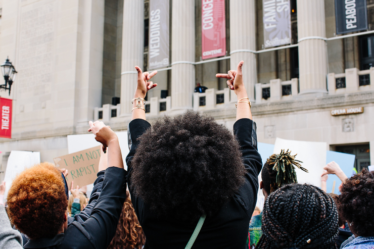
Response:
POLYGON ((151 0, 148 69, 169 66, 169 0, 151 0))

